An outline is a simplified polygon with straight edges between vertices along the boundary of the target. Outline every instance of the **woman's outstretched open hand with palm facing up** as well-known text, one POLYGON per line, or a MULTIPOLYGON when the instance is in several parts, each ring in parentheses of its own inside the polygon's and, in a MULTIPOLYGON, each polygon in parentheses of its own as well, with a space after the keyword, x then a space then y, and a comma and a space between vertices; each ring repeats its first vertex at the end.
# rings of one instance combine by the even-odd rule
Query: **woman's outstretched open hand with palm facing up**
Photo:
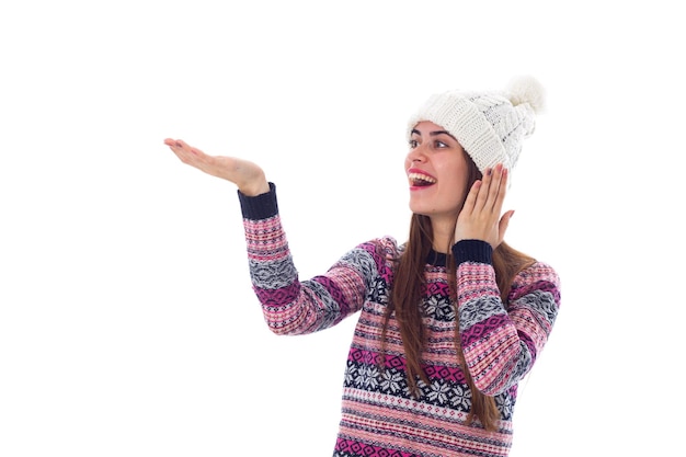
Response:
POLYGON ((244 195, 255 196, 270 191, 264 171, 253 162, 235 157, 208 156, 180 139, 167 138, 164 144, 183 163, 232 182, 244 195))

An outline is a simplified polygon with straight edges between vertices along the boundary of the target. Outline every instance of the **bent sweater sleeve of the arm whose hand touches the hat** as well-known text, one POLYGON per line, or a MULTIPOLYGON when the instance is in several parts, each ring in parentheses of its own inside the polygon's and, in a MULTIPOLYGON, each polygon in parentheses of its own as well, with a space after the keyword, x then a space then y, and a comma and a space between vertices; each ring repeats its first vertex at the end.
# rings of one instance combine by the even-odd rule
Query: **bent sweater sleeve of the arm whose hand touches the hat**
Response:
POLYGON ((501 393, 524 378, 548 341, 560 306, 560 279, 537 262, 514 281, 503 305, 492 248, 464 240, 453 248, 457 267, 460 342, 476 387, 501 393))

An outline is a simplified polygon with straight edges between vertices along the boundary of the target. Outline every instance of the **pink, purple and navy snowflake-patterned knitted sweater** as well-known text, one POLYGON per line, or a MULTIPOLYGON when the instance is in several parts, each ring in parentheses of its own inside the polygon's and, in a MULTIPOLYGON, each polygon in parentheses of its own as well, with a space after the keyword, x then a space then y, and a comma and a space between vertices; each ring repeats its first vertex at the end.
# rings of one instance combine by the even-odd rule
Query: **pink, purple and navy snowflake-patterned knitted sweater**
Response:
POLYGON ((434 253, 425 267, 420 306, 428 336, 422 361, 430 384, 419 380, 416 398, 408 389, 393 316, 385 366, 378 362, 392 260, 403 247, 390 237, 371 240, 347 252, 325 274, 301 281, 281 224, 274 184, 271 188, 256 197, 239 193, 251 279, 270 329, 277 334, 311 333, 359 312, 346 361, 333 456, 506 456, 517 384, 534 365, 558 313, 556 272, 540 262, 521 272, 505 307, 491 247, 467 240, 453 248, 466 365, 476 387, 494 397, 501 412, 498 431, 487 432, 478 420, 467 422, 471 391, 456 354, 456 309, 448 298, 445 254, 434 253))

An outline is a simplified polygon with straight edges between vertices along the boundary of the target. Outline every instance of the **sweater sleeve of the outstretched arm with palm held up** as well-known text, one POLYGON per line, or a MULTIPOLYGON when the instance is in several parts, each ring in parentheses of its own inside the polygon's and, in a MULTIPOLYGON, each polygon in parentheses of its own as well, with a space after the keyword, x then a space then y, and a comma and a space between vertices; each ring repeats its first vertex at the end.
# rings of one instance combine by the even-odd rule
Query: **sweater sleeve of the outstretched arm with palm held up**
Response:
POLYGON ((281 222, 276 187, 255 197, 239 192, 253 290, 276 334, 327 329, 358 311, 378 275, 374 247, 361 244, 324 275, 300 281, 281 222))

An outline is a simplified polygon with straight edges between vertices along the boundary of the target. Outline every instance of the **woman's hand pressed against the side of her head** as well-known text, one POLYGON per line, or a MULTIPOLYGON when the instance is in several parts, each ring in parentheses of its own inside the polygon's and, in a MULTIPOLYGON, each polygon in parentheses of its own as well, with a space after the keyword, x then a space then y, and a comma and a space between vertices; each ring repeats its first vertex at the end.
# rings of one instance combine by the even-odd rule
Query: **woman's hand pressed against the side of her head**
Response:
POLYGON ((455 242, 482 240, 495 249, 505 237, 514 210, 501 217, 507 190, 507 169, 502 164, 488 169, 480 181, 469 190, 465 206, 457 217, 455 242))

